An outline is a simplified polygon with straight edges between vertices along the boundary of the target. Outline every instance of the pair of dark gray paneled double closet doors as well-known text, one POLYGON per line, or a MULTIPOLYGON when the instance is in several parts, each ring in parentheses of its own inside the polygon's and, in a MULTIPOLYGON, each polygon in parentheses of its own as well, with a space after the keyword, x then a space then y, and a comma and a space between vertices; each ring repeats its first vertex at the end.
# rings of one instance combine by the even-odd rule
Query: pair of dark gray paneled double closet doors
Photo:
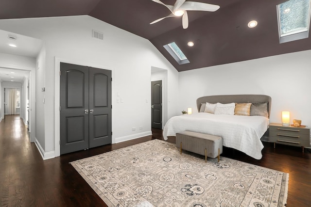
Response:
POLYGON ((111 71, 60 63, 60 154, 112 143, 111 71))

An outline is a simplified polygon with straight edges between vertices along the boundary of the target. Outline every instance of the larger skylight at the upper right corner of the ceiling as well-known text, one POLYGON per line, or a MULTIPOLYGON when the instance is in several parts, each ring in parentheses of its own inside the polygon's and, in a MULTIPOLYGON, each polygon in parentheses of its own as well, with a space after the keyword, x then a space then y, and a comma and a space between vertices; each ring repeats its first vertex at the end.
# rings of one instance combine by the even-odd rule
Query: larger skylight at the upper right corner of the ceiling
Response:
POLYGON ((310 0, 289 0, 277 5, 280 43, 309 37, 310 0))

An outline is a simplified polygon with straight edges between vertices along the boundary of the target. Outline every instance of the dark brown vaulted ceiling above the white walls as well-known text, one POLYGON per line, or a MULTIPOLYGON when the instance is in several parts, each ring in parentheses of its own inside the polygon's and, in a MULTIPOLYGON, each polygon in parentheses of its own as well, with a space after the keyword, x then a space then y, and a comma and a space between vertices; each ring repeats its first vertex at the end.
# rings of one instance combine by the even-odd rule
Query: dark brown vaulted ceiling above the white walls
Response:
MULTIPOLYGON (((311 49, 306 38, 279 44, 276 5, 285 0, 192 0, 220 5, 216 12, 188 11, 181 17, 152 0, 1 0, 0 19, 89 15, 148 39, 178 71, 311 49), (248 28, 250 20, 258 26, 248 28), (187 46, 194 42, 192 48, 187 46), (175 42, 189 59, 179 65, 163 48, 175 42)), ((175 0, 162 0, 173 5, 175 0)))

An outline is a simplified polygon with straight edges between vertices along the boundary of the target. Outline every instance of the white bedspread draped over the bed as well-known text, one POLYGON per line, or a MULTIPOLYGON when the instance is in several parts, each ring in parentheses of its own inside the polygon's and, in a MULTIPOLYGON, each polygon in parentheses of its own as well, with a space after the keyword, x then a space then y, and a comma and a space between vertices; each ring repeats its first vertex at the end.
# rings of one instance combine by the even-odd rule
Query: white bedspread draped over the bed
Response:
POLYGON ((192 113, 174 116, 166 123, 163 137, 176 136, 181 131, 195 131, 223 138, 223 145, 261 159, 263 144, 260 138, 268 129, 269 119, 264 116, 215 115, 192 113))

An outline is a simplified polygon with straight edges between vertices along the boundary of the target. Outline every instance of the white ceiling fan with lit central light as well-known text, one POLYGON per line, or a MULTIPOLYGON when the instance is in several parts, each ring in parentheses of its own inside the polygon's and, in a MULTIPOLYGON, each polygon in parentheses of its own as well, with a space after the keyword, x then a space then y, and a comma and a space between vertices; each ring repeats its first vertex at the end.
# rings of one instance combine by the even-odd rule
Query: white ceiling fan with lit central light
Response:
POLYGON ((186 1, 186 0, 176 0, 175 4, 172 5, 167 5, 163 3, 160 0, 152 0, 155 1, 156 3, 162 4, 166 6, 172 14, 169 16, 165 16, 159 19, 156 19, 155 21, 151 22, 150 24, 154 24, 156 22, 161 21, 162 19, 165 19, 167 17, 174 17, 174 16, 183 16, 182 17, 182 22, 183 22, 183 28, 187 29, 189 22, 188 22, 188 10, 192 11, 206 11, 206 12, 215 12, 220 8, 218 5, 214 4, 209 4, 209 3, 201 3, 201 2, 195 2, 195 1, 186 1))

